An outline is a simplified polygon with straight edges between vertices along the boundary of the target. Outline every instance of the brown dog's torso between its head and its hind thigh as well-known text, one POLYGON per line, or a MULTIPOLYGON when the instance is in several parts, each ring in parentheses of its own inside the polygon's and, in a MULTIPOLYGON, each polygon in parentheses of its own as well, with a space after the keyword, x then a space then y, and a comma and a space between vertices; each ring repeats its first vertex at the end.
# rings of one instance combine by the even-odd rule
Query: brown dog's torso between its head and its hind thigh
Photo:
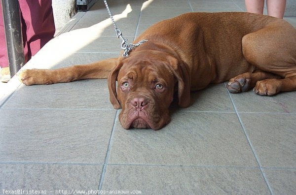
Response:
MULTIPOLYGON (((220 83, 235 74, 256 70, 243 55, 242 38, 271 25, 285 29, 281 36, 289 39, 290 44, 296 42, 296 30, 288 22, 246 12, 182 14, 152 25, 135 42, 148 39, 171 46, 191 69, 192 78, 217 73, 205 78, 204 83, 199 80, 195 89, 201 89, 207 83, 220 83), (200 66, 210 68, 201 71, 200 66)), ((277 44, 284 43, 277 41, 277 44)))

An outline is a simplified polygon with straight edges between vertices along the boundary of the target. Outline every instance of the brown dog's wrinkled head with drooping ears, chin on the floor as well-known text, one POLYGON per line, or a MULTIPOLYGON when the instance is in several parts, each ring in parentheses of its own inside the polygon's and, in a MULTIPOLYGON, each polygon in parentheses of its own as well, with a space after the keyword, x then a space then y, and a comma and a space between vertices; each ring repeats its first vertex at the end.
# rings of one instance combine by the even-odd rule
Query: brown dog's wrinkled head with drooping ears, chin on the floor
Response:
POLYGON ((115 109, 122 107, 122 127, 158 130, 168 124, 175 84, 179 105, 189 105, 188 77, 175 58, 157 51, 137 52, 122 60, 108 79, 111 103, 115 109))

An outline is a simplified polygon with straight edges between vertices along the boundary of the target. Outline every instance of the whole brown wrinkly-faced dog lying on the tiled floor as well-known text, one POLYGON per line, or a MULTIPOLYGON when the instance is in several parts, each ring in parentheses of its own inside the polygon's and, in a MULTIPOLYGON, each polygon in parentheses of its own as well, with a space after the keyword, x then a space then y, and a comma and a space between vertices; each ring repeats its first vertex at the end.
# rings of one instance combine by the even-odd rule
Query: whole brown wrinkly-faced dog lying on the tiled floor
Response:
POLYGON ((168 124, 175 89, 181 107, 189 106, 190 91, 229 79, 231 93, 254 88, 256 94, 273 96, 296 90, 296 30, 281 19, 187 13, 152 25, 134 42, 142 39, 148 41, 128 57, 25 70, 19 79, 34 85, 108 77, 110 101, 115 109, 122 107, 119 120, 125 129, 158 130, 168 124))

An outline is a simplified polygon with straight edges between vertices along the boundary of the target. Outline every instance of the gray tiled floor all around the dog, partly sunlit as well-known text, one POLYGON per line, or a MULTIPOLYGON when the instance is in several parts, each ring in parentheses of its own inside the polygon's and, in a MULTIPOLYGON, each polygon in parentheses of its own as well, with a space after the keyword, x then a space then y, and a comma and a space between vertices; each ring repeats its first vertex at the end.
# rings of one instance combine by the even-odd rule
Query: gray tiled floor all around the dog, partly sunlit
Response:
MULTIPOLYGON (((243 0, 108 1, 130 41, 185 12, 245 11, 243 0)), ((286 19, 296 26, 296 18, 286 19)), ((72 24, 25 68, 118 56, 120 40, 101 0, 72 24)), ((124 130, 106 80, 17 82, 0 101, 0 194, 296 194, 296 92, 260 97, 211 85, 192 94, 191 107, 172 108, 172 122, 162 130, 124 130)))

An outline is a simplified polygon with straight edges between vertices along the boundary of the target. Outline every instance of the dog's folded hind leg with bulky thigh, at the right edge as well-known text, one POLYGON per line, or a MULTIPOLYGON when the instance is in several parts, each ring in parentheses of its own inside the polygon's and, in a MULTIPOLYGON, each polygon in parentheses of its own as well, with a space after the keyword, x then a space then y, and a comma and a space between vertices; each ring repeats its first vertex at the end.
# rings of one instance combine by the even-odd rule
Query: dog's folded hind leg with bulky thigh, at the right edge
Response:
POLYGON ((281 91, 296 90, 296 30, 289 23, 276 20, 257 32, 245 35, 242 50, 250 64, 283 78, 268 77, 258 81, 254 88, 256 94, 273 96, 281 91))

